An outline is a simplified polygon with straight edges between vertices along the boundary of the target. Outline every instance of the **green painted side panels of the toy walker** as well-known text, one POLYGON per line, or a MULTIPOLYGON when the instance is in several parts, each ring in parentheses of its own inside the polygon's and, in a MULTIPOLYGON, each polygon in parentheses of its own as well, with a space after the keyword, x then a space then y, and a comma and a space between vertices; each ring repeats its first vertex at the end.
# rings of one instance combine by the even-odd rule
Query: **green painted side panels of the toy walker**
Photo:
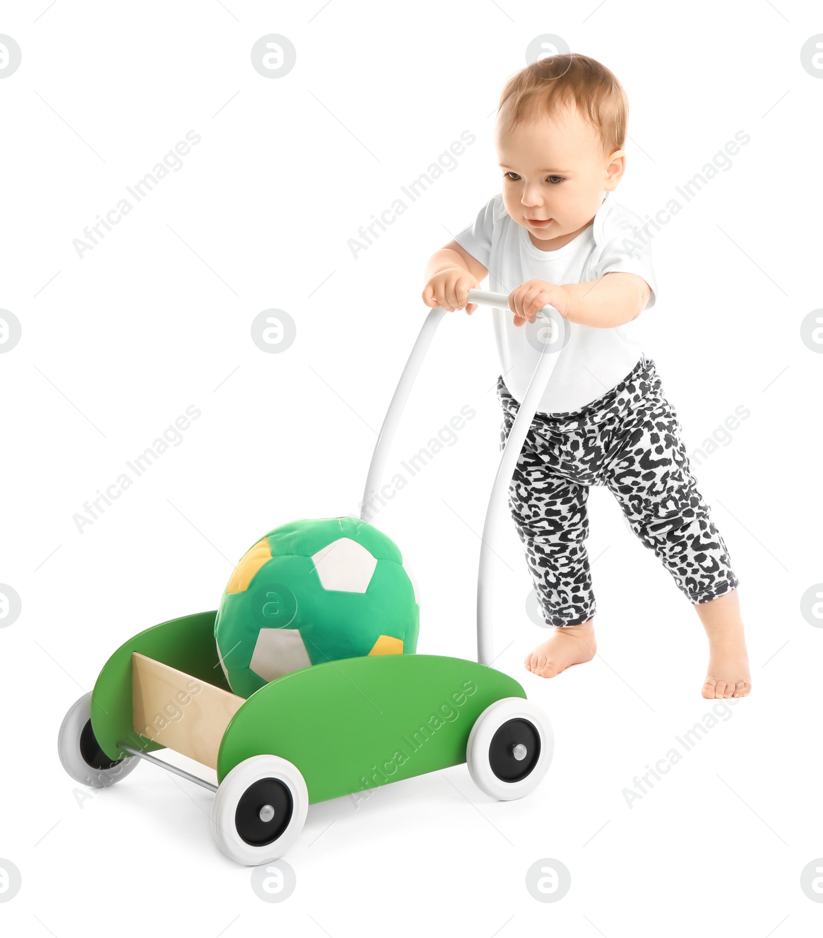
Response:
MULTIPOLYGON (((109 658, 92 693, 91 720, 112 759, 128 755, 118 742, 143 752, 163 748, 133 728, 132 652, 231 691, 217 658, 216 614, 147 628, 109 658)), ((463 658, 378 655, 315 664, 247 698, 223 734, 217 779, 261 754, 295 764, 311 803, 409 779, 464 763, 475 720, 504 697, 526 692, 507 674, 463 658)))

